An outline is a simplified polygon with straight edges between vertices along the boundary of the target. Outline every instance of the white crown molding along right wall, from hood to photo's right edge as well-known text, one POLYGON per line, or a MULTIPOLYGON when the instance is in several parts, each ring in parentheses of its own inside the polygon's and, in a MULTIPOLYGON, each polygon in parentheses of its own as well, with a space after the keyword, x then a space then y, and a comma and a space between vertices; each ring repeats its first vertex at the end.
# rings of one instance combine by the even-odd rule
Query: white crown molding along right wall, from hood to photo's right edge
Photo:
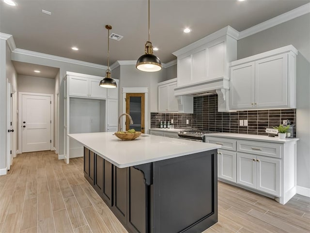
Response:
POLYGON ((262 32, 266 29, 272 28, 272 27, 277 26, 281 23, 287 22, 287 21, 294 19, 296 17, 306 15, 308 13, 310 13, 310 3, 307 3, 305 5, 297 7, 295 9, 288 11, 286 13, 283 13, 282 15, 279 15, 277 17, 273 17, 271 19, 268 19, 268 20, 266 20, 260 24, 257 24, 253 27, 250 27, 250 28, 240 32, 238 40, 243 39, 245 37, 248 37, 250 35, 253 35, 255 33, 262 32))

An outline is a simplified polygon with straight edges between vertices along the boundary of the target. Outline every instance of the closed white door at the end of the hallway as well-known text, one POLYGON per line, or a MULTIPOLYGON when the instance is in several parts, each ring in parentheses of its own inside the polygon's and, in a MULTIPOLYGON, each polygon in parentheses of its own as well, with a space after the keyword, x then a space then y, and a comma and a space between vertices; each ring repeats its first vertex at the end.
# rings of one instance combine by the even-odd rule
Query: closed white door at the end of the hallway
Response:
POLYGON ((22 152, 51 150, 51 97, 22 95, 22 152))

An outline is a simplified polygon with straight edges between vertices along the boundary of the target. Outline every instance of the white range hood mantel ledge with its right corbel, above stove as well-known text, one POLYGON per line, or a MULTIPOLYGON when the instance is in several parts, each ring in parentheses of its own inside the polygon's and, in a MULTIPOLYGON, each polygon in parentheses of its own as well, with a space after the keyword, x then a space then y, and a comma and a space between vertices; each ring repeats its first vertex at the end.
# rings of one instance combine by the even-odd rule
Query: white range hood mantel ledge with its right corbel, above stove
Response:
POLYGON ((217 94, 218 98, 218 112, 228 111, 228 90, 229 80, 224 77, 210 79, 200 83, 193 83, 184 86, 177 86, 174 88, 174 95, 180 96, 207 96, 217 94))

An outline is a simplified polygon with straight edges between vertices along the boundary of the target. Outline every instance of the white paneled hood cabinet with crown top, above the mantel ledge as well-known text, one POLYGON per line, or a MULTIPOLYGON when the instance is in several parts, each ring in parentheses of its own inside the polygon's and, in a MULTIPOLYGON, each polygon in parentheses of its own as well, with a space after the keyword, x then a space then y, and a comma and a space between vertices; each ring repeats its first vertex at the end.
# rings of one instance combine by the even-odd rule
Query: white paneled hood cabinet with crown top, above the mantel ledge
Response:
POLYGON ((229 89, 229 62, 237 58, 237 36, 228 26, 173 52, 177 56, 176 94, 229 89))

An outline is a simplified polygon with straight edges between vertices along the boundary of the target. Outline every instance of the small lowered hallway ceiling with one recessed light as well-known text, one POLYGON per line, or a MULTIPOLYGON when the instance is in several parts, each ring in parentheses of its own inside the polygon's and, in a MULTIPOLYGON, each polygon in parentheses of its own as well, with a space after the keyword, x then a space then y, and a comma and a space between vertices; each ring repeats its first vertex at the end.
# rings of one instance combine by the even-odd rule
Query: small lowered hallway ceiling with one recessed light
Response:
POLYGON ((17 74, 20 75, 54 79, 59 71, 59 68, 55 67, 47 67, 25 62, 16 62, 16 61, 12 62, 13 66, 16 69, 17 74), (34 70, 38 70, 40 71, 40 73, 36 73, 34 72, 34 70))

